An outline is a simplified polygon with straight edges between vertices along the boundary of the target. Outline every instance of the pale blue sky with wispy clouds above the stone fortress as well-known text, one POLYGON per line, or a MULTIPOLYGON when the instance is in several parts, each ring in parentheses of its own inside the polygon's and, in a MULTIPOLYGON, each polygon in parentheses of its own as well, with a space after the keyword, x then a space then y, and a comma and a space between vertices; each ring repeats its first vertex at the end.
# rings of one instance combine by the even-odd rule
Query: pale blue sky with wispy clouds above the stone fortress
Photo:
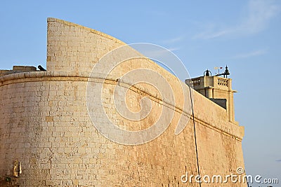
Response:
POLYGON ((227 64, 246 172, 281 183, 281 1, 2 0, 0 69, 46 67, 48 17, 169 48, 191 77, 227 64))

